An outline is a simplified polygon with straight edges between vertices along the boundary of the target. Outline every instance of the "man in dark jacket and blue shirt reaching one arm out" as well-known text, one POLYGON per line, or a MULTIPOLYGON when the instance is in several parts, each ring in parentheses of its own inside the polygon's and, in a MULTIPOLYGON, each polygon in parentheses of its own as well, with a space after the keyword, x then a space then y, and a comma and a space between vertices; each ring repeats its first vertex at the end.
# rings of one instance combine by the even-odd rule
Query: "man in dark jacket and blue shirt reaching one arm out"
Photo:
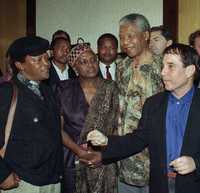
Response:
MULTIPOLYGON (((169 46, 161 72, 166 91, 146 100, 138 130, 125 136, 104 136, 105 150, 89 153, 92 158, 86 162, 118 161, 148 146, 150 193, 199 193, 200 90, 194 86, 199 68, 200 59, 193 48, 169 46)), ((88 140, 99 145, 95 132, 88 140)))

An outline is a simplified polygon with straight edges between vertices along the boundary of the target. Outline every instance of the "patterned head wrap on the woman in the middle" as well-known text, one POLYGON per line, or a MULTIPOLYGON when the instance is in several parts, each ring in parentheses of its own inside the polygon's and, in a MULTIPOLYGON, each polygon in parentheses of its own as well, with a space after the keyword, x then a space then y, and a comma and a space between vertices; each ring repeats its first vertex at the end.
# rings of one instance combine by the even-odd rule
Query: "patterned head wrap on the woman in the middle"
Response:
POLYGON ((71 67, 74 67, 75 62, 77 61, 77 59, 79 58, 79 56, 86 52, 86 51, 90 51, 91 48, 88 45, 88 43, 78 43, 74 48, 71 49, 70 53, 67 56, 67 61, 68 64, 71 67))

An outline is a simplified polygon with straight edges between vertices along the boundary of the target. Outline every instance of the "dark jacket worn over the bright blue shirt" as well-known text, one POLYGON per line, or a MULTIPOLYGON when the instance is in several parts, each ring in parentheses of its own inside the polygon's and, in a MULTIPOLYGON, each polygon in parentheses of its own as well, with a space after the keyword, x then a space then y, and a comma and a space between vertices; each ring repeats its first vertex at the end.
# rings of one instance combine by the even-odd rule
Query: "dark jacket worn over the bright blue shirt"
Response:
MULTIPOLYGON (((118 161, 140 152, 148 146, 150 153, 150 193, 168 193, 166 166, 166 110, 168 92, 146 100, 138 130, 117 137, 111 136, 102 153, 104 163, 118 161), (119 151, 120 149, 120 151, 119 151)), ((193 157, 197 169, 187 175, 177 175, 176 193, 200 192, 200 89, 196 89, 189 111, 181 155, 193 157)))

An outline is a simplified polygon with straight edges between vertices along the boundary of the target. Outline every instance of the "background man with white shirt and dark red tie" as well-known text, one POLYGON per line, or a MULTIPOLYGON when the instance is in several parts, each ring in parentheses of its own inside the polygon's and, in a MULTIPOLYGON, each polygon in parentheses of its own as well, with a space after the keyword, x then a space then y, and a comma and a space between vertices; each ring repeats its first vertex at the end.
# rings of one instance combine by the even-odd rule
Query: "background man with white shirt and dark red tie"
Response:
POLYGON ((113 34, 106 33, 98 38, 97 51, 100 77, 116 80, 117 49, 118 40, 113 34))

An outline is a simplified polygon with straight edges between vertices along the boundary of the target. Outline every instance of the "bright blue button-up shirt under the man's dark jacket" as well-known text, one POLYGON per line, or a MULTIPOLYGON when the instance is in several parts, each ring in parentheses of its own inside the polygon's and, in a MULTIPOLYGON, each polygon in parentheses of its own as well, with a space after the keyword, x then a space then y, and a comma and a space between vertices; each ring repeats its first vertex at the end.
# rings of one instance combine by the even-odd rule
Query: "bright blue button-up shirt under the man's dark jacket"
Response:
POLYGON ((192 102, 194 87, 190 89, 182 98, 177 99, 169 94, 167 115, 166 115, 166 147, 168 171, 172 168, 169 164, 172 160, 180 156, 183 137, 187 124, 187 118, 192 102))

